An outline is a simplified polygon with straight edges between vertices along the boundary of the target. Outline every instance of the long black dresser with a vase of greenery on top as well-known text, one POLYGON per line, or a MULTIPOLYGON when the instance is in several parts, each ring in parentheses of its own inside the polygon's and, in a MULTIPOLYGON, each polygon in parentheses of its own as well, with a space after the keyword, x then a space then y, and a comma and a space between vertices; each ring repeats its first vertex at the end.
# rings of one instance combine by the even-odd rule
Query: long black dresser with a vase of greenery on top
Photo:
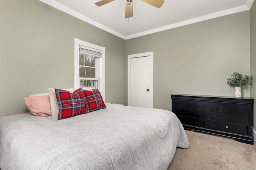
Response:
POLYGON ((250 97, 173 94, 172 112, 183 127, 253 144, 253 101, 250 97))

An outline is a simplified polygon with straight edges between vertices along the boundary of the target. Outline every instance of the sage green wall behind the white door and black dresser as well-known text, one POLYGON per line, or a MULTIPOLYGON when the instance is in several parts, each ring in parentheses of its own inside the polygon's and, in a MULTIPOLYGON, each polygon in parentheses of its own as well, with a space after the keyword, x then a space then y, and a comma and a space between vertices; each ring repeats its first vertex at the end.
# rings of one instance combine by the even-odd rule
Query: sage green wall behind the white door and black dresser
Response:
MULTIPOLYGON (((227 79, 233 72, 250 74, 250 11, 126 40, 126 68, 127 55, 149 51, 154 108, 171 110, 173 93, 234 96, 227 79)), ((126 69, 126 104, 127 89, 126 69)))

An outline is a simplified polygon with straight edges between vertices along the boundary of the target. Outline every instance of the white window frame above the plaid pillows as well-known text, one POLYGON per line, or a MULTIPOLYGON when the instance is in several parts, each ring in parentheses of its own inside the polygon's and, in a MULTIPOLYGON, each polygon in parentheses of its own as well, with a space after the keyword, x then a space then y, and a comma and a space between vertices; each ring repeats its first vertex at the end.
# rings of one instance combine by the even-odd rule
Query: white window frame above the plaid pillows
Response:
MULTIPOLYGON (((98 90, 100 91, 103 100, 105 101, 105 47, 101 47, 99 45, 95 45, 92 43, 84 42, 82 40, 79 40, 78 38, 74 39, 75 44, 75 80, 74 80, 74 88, 79 89, 80 88, 80 77, 79 77, 79 46, 83 45, 85 47, 89 47, 92 49, 100 50, 102 51, 102 57, 98 58, 98 90)), ((91 80, 93 78, 90 78, 91 80)))

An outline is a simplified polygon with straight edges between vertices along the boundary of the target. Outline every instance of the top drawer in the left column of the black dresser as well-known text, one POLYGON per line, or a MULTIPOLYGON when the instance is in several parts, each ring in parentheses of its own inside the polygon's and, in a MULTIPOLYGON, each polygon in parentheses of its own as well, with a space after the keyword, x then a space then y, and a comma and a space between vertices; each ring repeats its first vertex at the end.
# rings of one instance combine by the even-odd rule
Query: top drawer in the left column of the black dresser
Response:
POLYGON ((173 102, 172 104, 178 108, 204 110, 204 102, 203 101, 190 101, 190 100, 174 99, 172 102, 173 102))

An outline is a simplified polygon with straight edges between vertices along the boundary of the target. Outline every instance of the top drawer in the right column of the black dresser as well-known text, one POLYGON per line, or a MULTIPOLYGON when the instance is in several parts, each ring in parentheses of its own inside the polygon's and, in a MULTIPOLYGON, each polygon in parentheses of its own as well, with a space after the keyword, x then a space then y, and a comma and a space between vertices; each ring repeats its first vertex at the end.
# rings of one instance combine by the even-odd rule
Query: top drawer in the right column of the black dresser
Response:
POLYGON ((232 103, 206 102, 206 111, 248 115, 248 106, 232 103))

